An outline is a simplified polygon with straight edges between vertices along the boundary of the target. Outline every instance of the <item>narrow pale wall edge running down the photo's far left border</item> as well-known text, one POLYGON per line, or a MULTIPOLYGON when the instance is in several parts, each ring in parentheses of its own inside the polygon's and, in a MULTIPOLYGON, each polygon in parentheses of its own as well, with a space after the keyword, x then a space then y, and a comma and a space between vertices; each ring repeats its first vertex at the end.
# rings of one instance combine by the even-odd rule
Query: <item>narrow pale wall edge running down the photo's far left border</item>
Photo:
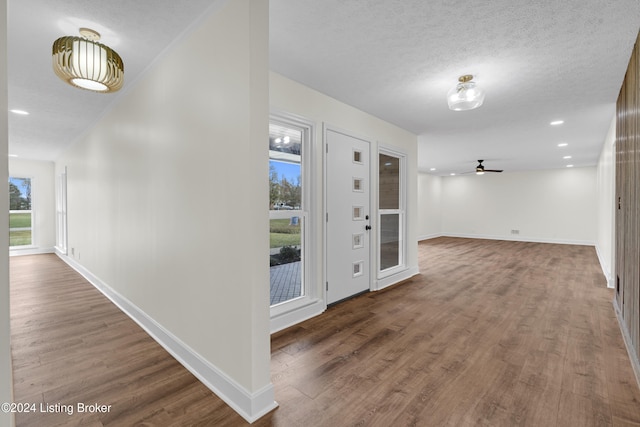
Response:
MULTIPOLYGON (((7 132, 7 2, 0 0, 0 177, 9 179, 7 132)), ((9 187, 0 191, 0 403, 13 402, 9 317, 9 187)), ((0 411, 0 425, 13 426, 13 414, 0 411)))

